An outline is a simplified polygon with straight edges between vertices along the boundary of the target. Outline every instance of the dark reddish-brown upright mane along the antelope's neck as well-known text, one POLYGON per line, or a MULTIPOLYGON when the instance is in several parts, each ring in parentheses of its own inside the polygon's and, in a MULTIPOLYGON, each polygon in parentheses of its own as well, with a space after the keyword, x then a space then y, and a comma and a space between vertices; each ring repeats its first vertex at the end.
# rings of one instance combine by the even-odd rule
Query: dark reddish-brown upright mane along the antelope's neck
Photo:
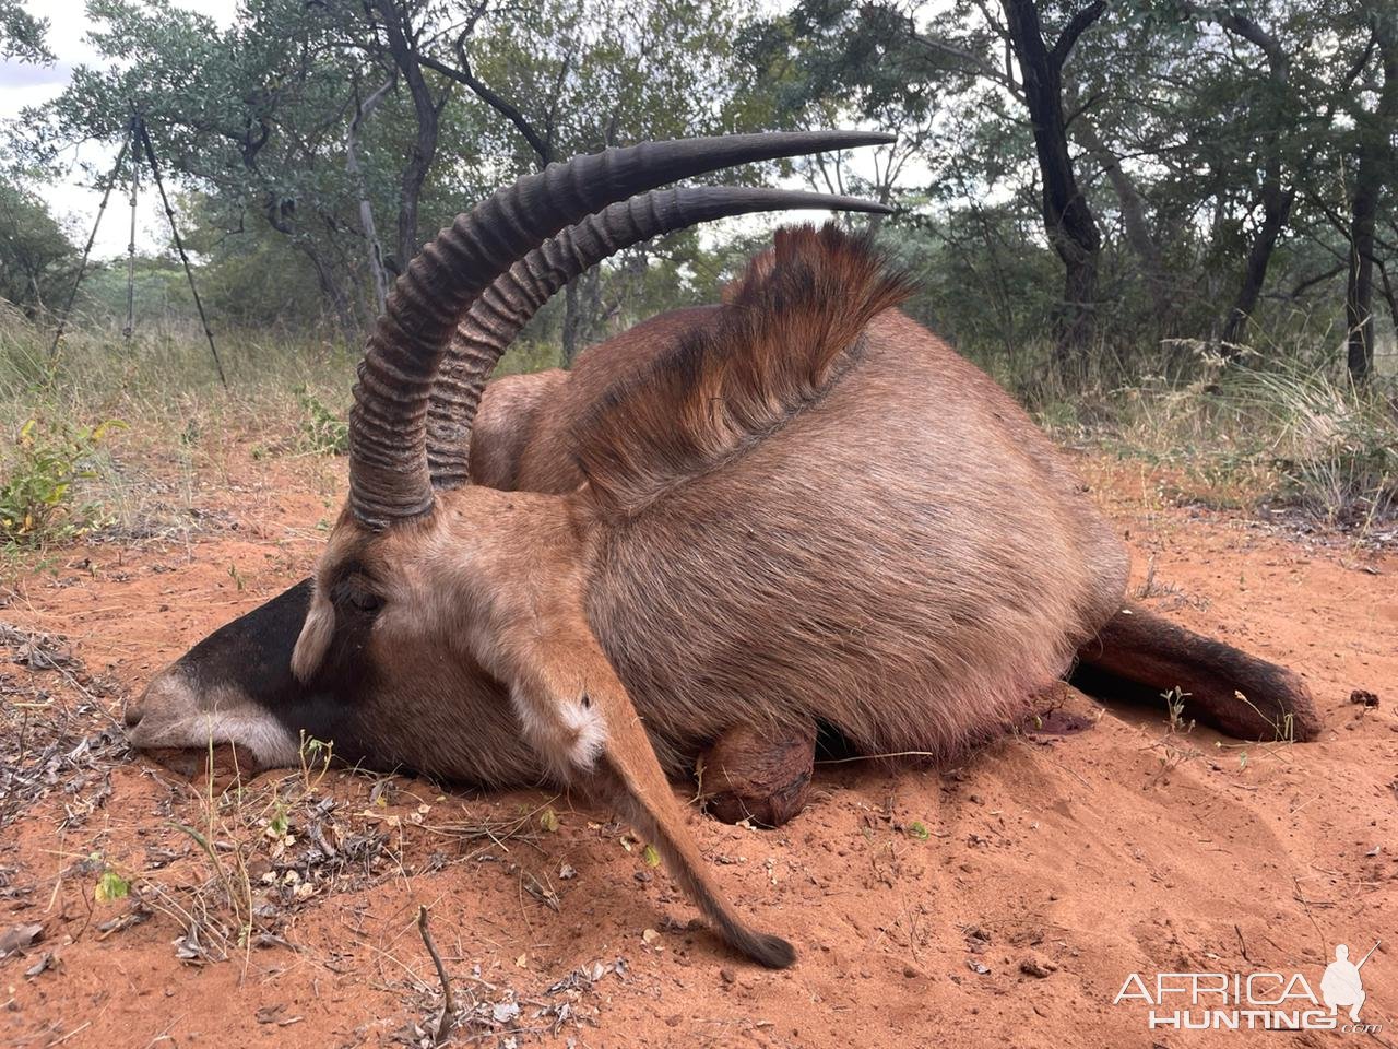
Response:
POLYGON ((835 225, 779 231, 724 297, 717 323, 617 383, 575 425, 594 505, 608 518, 635 515, 781 427, 839 380, 865 324, 909 291, 868 236, 835 225))

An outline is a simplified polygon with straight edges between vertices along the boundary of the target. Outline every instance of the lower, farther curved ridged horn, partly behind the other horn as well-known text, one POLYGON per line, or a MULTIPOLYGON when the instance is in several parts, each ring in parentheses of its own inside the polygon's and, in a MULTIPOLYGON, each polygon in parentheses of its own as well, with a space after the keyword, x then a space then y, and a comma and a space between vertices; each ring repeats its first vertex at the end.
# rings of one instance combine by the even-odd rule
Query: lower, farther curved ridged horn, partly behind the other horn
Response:
POLYGON ((612 204, 545 241, 500 274, 457 326, 428 404, 428 470, 438 488, 470 481, 471 424, 485 380, 540 306, 603 259, 653 236, 752 211, 821 208, 888 214, 872 200, 779 189, 651 190, 612 204))

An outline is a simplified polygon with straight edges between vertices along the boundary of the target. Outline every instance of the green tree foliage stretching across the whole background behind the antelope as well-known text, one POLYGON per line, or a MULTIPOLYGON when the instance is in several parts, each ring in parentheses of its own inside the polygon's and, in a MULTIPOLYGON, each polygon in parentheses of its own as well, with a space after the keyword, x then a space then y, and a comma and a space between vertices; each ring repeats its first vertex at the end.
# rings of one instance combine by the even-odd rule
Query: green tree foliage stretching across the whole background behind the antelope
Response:
MULTIPOLYGON (((1088 6, 1032 7, 1053 46, 1088 6)), ((1074 376, 1079 387, 1137 382, 1166 340, 1218 347, 1260 250, 1250 323, 1227 340, 1285 355, 1328 333, 1360 255, 1360 169, 1384 172, 1363 311, 1377 316, 1380 351, 1391 341, 1398 25, 1388 7, 1123 0, 1076 39, 1060 70, 1065 147, 1102 235, 1095 291, 1083 292, 1093 359, 1074 376), (1264 238, 1279 201, 1286 215, 1264 238)), ((56 176, 74 143, 115 140, 134 101, 176 190, 215 331, 334 330, 356 343, 377 309, 370 256, 391 278, 431 229, 545 159, 646 137, 877 127, 898 141, 723 178, 795 178, 892 203, 899 213, 872 225, 921 281, 910 312, 1016 386, 1044 385, 1033 373, 1040 350, 1076 304, 1065 302, 1037 117, 1004 4, 520 0, 459 15, 429 0, 245 0, 215 21, 172 0, 94 0, 98 59, 7 129, 7 152, 31 178, 56 176), (407 29, 411 53, 386 43, 384 20, 407 29), (418 76, 425 99, 411 91, 418 76)), ((42 28, 0 0, 0 49, 42 49, 42 28)), ((556 364, 565 341, 576 348, 712 301, 769 229, 733 222, 622 252, 575 284, 566 323, 562 302, 545 306, 505 368, 556 364)), ((73 248, 43 206, 0 186, 0 295, 52 308, 71 269, 73 248)), ((141 324, 192 309, 171 257, 138 260, 136 295, 141 324)), ((80 312, 87 323, 123 315, 120 264, 96 266, 80 312)), ((1169 382, 1199 373, 1188 354, 1166 357, 1169 382)))

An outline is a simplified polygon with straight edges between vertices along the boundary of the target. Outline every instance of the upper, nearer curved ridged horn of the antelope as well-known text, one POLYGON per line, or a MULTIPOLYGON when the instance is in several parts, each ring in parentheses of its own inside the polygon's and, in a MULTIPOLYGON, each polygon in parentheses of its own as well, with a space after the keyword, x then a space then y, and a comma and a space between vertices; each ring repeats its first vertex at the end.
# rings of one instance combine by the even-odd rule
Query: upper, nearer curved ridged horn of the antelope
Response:
POLYGON ((393 285, 350 410, 350 511, 370 529, 432 509, 426 407, 447 340, 499 274, 566 225, 668 182, 735 164, 891 141, 865 131, 773 131, 642 143, 519 179, 428 243, 393 285))

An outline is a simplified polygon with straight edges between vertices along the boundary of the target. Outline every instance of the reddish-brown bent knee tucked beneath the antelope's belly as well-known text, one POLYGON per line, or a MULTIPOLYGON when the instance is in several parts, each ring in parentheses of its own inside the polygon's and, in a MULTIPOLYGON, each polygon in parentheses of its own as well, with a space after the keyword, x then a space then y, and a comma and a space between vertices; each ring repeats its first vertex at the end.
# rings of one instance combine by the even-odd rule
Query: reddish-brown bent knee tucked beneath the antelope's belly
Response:
POLYGON ((699 800, 726 824, 780 827, 805 807, 814 771, 814 723, 798 732, 734 726, 699 755, 699 800))

